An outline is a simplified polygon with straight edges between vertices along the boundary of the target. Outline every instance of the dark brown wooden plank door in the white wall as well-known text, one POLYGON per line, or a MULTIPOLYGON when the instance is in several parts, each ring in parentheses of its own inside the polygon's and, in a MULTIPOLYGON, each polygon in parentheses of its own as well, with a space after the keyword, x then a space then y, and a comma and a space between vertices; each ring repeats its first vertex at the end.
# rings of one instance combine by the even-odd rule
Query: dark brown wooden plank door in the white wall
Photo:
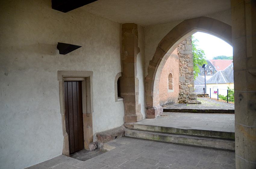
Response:
POLYGON ((64 81, 66 131, 69 153, 83 149, 82 82, 64 81))

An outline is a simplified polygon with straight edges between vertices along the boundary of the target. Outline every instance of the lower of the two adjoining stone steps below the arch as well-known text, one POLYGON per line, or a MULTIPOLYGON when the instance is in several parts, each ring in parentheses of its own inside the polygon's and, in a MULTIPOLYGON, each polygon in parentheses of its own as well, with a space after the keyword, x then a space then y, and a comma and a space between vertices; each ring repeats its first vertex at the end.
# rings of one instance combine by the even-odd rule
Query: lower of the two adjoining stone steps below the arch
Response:
POLYGON ((134 129, 126 129, 125 136, 142 138, 148 140, 158 140, 169 143, 180 143, 194 146, 218 148, 218 149, 228 149, 235 150, 235 141, 234 140, 225 140, 217 138, 207 138, 207 137, 198 137, 190 135, 180 135, 180 134, 167 134, 159 133, 152 131, 142 131, 134 129))

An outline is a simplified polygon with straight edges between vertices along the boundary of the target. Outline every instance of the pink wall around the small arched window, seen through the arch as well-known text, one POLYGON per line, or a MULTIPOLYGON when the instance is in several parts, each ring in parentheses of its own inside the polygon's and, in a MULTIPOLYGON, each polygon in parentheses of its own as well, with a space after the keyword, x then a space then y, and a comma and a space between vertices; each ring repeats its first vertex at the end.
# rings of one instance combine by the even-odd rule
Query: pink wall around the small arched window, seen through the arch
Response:
POLYGON ((159 82, 159 101, 160 105, 175 104, 178 101, 179 96, 179 56, 177 48, 169 56, 164 68, 161 73, 160 82, 159 82), (173 91, 168 92, 168 76, 172 73, 173 75, 173 91))

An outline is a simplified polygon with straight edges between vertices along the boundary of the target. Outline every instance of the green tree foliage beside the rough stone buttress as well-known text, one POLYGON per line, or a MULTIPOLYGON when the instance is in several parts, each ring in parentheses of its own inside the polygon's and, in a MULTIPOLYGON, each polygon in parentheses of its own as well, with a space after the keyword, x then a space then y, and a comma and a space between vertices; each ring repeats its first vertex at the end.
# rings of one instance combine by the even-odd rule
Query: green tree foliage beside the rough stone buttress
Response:
POLYGON ((193 51, 193 63, 194 63, 194 79, 198 77, 198 73, 200 73, 200 69, 198 68, 198 65, 206 64, 205 56, 204 56, 204 50, 197 48, 198 40, 192 35, 192 51, 193 51))

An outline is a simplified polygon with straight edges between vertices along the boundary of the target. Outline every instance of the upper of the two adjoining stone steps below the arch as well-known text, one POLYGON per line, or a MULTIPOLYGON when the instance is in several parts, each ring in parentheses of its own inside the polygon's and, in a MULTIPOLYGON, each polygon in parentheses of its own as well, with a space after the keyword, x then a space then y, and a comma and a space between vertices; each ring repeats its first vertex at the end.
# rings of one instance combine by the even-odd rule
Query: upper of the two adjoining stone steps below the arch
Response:
POLYGON ((222 129, 209 128, 209 130, 202 130, 201 127, 187 127, 187 126, 157 126, 157 125, 145 125, 134 123, 134 129, 145 130, 145 131, 155 131, 168 134, 183 134, 183 135, 193 135, 199 137, 213 137, 221 139, 235 140, 234 132, 221 131, 222 129))

